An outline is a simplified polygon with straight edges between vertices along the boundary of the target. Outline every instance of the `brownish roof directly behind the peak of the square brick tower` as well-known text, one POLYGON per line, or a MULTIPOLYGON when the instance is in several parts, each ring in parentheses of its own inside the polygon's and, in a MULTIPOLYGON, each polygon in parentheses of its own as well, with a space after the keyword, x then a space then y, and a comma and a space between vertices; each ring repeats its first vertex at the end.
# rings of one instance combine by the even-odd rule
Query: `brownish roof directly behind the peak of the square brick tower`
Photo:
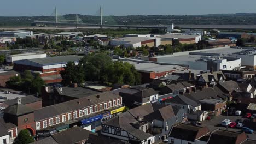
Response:
MULTIPOLYGON (((22 97, 21 98, 21 104, 30 104, 30 103, 34 103, 36 101, 41 101, 42 99, 40 98, 37 98, 33 95, 28 95, 26 97, 22 97)), ((11 100, 6 100, 4 101, 5 104, 9 105, 9 106, 12 106, 12 105, 15 105, 17 104, 17 99, 11 99, 11 100)))

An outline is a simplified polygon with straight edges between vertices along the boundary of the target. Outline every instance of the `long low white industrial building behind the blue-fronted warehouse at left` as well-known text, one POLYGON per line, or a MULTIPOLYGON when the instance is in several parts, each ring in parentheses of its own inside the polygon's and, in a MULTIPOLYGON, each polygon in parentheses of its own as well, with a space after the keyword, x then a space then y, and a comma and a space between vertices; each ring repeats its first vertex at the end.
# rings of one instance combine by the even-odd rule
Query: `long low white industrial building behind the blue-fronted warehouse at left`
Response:
POLYGON ((45 58, 46 53, 22 53, 17 55, 6 56, 7 64, 13 64, 13 61, 19 61, 22 59, 34 59, 34 58, 45 58))

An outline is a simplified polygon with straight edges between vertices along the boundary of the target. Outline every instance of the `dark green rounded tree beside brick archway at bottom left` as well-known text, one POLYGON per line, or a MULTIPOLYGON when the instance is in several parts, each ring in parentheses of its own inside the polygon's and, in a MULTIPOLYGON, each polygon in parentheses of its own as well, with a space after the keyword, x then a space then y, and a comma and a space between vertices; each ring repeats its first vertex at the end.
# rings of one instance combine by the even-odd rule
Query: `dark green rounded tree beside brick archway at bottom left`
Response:
POLYGON ((34 142, 33 137, 30 136, 30 132, 27 129, 21 130, 18 136, 14 140, 14 144, 27 144, 34 142))

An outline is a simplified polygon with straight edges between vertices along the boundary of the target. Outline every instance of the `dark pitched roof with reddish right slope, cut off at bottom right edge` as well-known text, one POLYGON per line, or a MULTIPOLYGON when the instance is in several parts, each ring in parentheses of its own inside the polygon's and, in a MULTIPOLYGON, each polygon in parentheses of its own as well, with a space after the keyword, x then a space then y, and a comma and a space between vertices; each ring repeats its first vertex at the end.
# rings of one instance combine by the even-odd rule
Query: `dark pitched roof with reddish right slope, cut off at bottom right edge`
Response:
POLYGON ((241 143, 247 139, 245 133, 236 133, 232 131, 225 131, 225 130, 217 130, 214 131, 210 139, 208 141, 209 144, 216 144, 216 143, 226 143, 226 144, 235 144, 241 143))

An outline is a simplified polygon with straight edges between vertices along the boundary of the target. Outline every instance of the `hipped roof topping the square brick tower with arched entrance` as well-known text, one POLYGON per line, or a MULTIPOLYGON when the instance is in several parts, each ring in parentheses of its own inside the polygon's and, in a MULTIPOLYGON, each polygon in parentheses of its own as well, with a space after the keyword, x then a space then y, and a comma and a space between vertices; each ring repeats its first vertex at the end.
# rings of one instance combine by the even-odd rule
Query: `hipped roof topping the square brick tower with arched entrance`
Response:
POLYGON ((8 113, 8 114, 14 115, 14 116, 25 115, 25 114, 31 113, 33 111, 34 111, 34 109, 32 109, 31 107, 28 107, 26 105, 23 105, 23 104, 9 106, 6 109, 4 109, 4 113, 8 113))

